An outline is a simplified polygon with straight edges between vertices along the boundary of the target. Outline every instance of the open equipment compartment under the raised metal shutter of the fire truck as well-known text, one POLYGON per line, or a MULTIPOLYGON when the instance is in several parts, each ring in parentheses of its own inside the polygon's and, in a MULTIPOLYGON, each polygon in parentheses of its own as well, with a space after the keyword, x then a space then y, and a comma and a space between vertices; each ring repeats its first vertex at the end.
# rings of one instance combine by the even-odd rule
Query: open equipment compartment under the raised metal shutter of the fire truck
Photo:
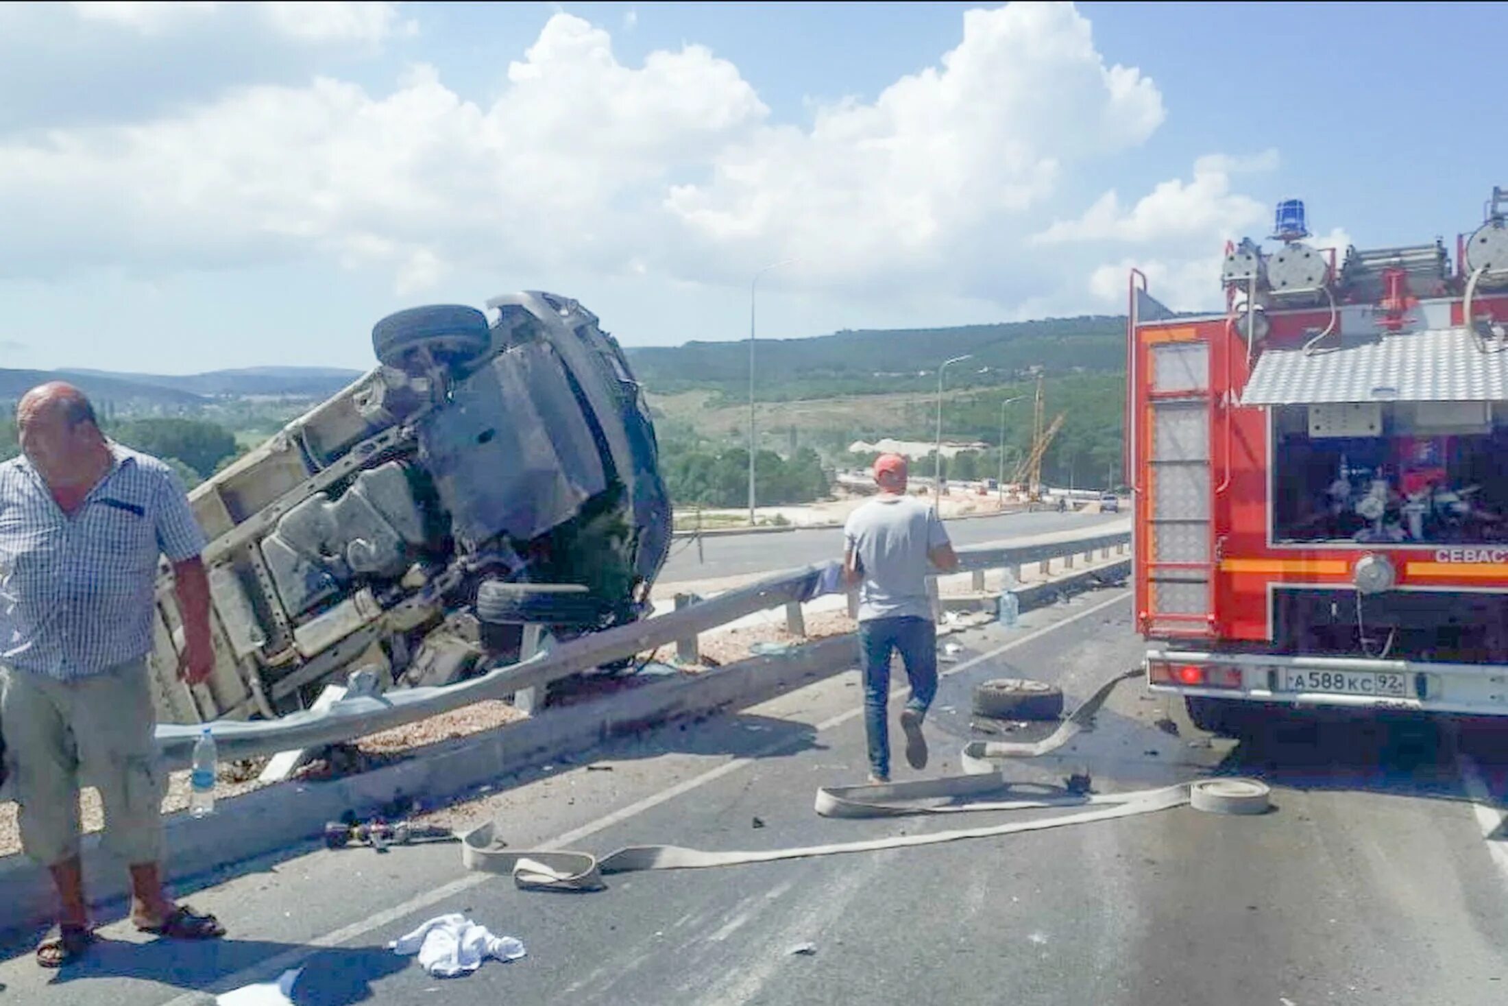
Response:
POLYGON ((1270 409, 1274 541, 1508 541, 1508 403, 1270 409))

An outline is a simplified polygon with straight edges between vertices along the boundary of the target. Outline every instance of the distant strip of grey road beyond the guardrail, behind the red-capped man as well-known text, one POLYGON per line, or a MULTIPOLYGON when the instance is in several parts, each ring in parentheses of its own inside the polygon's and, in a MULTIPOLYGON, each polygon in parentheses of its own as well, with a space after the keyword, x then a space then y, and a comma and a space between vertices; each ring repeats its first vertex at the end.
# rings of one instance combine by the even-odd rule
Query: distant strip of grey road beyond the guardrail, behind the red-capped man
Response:
MULTIPOLYGON (((1090 529, 1123 520, 1125 514, 1012 513, 998 517, 949 520, 947 532, 955 546, 986 544, 1007 538, 1057 531, 1090 529)), ((841 528, 804 528, 780 534, 727 534, 701 538, 701 560, 694 538, 676 538, 659 576, 662 584, 718 579, 745 573, 772 573, 808 563, 843 558, 841 528)))

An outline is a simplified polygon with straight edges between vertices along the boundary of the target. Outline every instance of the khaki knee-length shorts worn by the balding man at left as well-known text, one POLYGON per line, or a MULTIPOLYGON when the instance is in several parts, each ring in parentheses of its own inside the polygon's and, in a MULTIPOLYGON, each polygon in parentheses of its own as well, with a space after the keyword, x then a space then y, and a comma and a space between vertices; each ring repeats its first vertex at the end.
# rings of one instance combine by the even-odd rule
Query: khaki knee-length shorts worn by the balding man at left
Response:
POLYGON ((145 658, 72 682, 0 667, 5 757, 30 858, 53 866, 78 855, 83 778, 100 790, 106 848, 131 866, 160 860, 155 719, 145 658))

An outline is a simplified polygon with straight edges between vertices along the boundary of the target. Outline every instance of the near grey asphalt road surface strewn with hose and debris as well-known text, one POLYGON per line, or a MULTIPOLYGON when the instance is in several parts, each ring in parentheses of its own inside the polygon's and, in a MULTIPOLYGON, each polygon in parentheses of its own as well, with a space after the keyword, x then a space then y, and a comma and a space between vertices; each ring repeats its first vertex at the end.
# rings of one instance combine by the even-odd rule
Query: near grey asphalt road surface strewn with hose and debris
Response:
MULTIPOLYGON (((927 722, 929 772, 958 771, 979 680, 1030 674, 1060 683, 1074 704, 1131 667, 1140 643, 1129 611, 1125 591, 1104 590, 1012 630, 962 636, 967 652, 946 665, 927 722)), ((502 780, 467 813, 496 817, 514 848, 596 852, 816 845, 1000 819, 817 817, 819 784, 863 780, 858 703, 843 673, 742 715, 605 748, 591 768, 502 780)), ((1494 831, 1500 814, 1467 796, 1500 799, 1503 748, 1493 728, 1345 721, 1209 739, 1131 680, 1092 733, 1007 774, 1059 783, 1089 771, 1099 792, 1256 775, 1274 786, 1274 810, 1185 807, 917 849, 636 873, 591 894, 464 873, 454 846, 300 849, 190 891, 231 926, 220 944, 143 943, 116 923, 63 974, 12 950, 0 998, 185 1006, 302 962, 294 1001, 320 1006, 1496 1004, 1508 983, 1508 843, 1494 831), (520 938, 528 956, 439 980, 385 949, 452 911, 520 938), (805 943, 814 953, 792 953, 805 943)), ((902 762, 896 777, 911 775, 902 762)))

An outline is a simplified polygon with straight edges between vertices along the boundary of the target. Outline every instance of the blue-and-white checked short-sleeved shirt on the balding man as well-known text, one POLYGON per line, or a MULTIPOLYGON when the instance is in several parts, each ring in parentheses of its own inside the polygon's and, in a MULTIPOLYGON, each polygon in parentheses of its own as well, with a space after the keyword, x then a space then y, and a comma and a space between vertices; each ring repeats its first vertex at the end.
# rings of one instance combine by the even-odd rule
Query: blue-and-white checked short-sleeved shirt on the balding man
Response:
POLYGON ((74 680, 151 652, 158 557, 192 560, 204 532, 172 468, 110 452, 72 517, 26 455, 0 463, 0 664, 74 680))

